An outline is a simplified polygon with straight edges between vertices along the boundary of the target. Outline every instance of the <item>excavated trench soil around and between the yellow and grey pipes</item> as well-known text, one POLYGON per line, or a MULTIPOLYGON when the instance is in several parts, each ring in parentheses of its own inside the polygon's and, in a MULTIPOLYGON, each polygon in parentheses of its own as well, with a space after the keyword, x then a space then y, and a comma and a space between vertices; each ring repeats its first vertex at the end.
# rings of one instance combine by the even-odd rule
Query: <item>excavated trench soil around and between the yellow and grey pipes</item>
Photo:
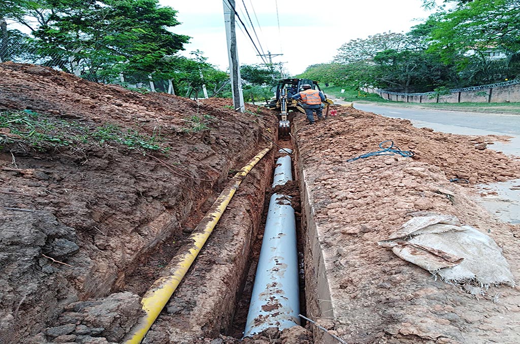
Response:
MULTIPOLYGON (((277 144, 282 148, 293 148, 290 140, 279 140, 277 144)), ((275 189, 271 188, 272 171, 276 167, 274 161, 281 155, 276 153, 278 149, 275 146, 241 184, 202 252, 143 343, 202 343, 203 338, 219 336, 225 337, 226 342, 232 342, 233 338, 237 342, 241 341, 262 246, 267 204, 275 192, 283 192, 292 197, 298 242, 300 307, 301 313, 306 315, 305 226, 302 226, 301 221, 300 191, 297 180, 275 189)), ((296 176, 297 152, 292 158, 293 175, 296 176)), ((211 195, 201 210, 209 208, 215 197, 216 195, 211 195)), ((184 234, 197 225, 199 218, 200 214, 191 218, 190 223, 183 228, 184 234)), ((127 274, 124 282, 120 283, 122 288, 114 291, 130 291, 142 295, 153 279, 160 275, 161 267, 167 263, 167 257, 182 245, 183 236, 179 235, 164 241, 153 254, 143 260, 140 268, 127 274)), ((297 342, 312 342, 308 337, 310 334, 303 328, 300 329, 301 331, 296 333, 297 342), (304 336, 301 334, 302 331, 304 336)), ((245 339, 245 342, 279 337, 280 333, 276 334, 273 330, 268 334, 262 333, 245 339)), ((286 337, 289 338, 291 335, 286 337)), ((282 341, 279 339, 274 342, 282 341)))

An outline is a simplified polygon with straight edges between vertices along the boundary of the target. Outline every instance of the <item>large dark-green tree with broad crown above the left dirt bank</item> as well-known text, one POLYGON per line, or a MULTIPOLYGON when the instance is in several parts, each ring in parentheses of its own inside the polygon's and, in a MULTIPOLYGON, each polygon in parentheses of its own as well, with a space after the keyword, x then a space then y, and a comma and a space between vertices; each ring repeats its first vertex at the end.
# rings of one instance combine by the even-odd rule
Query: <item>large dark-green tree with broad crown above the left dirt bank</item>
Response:
POLYGON ((48 65, 70 72, 74 56, 91 80, 121 71, 151 73, 189 38, 168 30, 179 24, 176 11, 158 0, 43 0, 39 5, 14 19, 32 30, 42 57, 53 57, 48 65))

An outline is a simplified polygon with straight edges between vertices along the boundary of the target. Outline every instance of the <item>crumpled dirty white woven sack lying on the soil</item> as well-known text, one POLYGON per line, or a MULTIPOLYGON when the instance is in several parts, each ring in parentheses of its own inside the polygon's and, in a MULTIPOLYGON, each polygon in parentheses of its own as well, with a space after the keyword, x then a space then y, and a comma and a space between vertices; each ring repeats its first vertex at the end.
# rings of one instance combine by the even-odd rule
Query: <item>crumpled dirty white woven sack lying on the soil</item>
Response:
POLYGON ((473 295, 485 295, 490 286, 501 283, 515 286, 495 241, 452 215, 413 217, 379 245, 473 295))

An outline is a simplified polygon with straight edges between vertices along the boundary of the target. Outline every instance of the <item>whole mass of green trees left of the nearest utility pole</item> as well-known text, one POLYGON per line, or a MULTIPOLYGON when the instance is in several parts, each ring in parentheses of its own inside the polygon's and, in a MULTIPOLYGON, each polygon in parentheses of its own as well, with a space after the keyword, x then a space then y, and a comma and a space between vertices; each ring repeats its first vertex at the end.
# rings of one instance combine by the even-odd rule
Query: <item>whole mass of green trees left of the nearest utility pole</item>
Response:
POLYGON ((179 56, 190 37, 173 33, 177 11, 158 0, 7 0, 0 4, 0 58, 31 55, 30 61, 92 81, 147 85, 197 97, 202 85, 210 96, 229 87, 227 73, 206 62, 201 51, 179 56), (30 36, 7 29, 7 20, 24 25, 30 36), (122 73, 122 74, 120 74, 122 73), (145 83, 143 83, 145 82, 145 83))

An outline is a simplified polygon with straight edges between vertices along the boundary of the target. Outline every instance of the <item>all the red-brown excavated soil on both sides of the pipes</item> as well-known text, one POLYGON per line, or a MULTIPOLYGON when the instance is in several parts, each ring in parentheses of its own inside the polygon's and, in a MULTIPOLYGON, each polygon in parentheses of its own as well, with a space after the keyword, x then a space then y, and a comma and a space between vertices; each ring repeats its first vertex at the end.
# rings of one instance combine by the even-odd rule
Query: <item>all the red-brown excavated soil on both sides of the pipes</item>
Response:
MULTIPOLYGON (((1 63, 0 75, 2 112, 64 123, 65 137, 79 126, 113 124, 155 138, 153 149, 100 139, 37 148, 7 130, 13 123, 0 123, 0 342, 121 342, 141 315, 139 296, 226 181, 270 145, 264 136, 275 139, 276 117, 252 105, 231 111, 230 100, 144 95, 34 65, 1 63)), ((518 160, 490 149, 505 138, 435 133, 335 108, 337 116, 314 126, 301 114, 293 122, 297 181, 285 192, 303 216, 306 315, 349 343, 520 342, 517 288, 492 287, 476 299, 377 245, 414 212, 452 214, 490 235, 517 277, 518 225, 475 202, 475 184, 520 177, 518 160), (415 155, 347 162, 385 140, 415 155), (320 297, 325 289, 329 298, 320 297)), ((248 256, 259 248, 276 151, 244 180, 144 342, 240 342, 233 308, 248 256)), ((314 340, 293 327, 243 342, 335 342, 306 328, 314 340)))

